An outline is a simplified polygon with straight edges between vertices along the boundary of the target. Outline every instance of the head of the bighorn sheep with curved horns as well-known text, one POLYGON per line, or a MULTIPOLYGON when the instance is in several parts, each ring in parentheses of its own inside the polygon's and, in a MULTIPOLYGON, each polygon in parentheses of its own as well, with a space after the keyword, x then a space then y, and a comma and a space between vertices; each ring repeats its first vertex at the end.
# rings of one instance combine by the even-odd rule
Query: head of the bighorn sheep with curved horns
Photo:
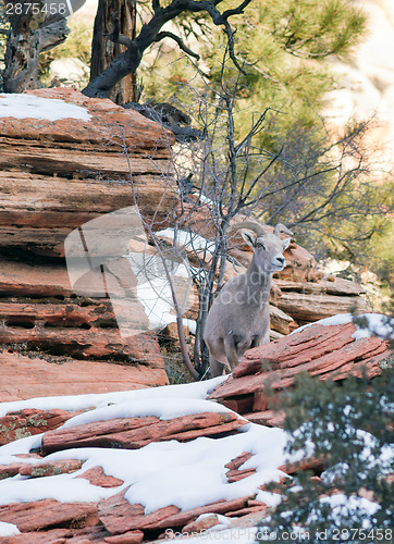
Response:
POLYGON ((279 234, 285 233, 292 236, 292 231, 279 223, 273 233, 268 233, 261 224, 253 221, 243 221, 231 227, 232 231, 238 228, 243 228, 242 237, 254 250, 255 262, 260 272, 273 273, 284 269, 286 261, 283 251, 287 249, 292 238, 282 239, 279 234))

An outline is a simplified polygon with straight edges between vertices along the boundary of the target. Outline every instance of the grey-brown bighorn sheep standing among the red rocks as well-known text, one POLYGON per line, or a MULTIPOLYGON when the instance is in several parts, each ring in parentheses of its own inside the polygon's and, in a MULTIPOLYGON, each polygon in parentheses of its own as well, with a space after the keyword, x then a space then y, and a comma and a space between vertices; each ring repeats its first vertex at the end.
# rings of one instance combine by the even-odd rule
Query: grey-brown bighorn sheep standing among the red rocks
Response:
POLYGON ((271 279, 274 272, 284 269, 283 251, 291 243, 291 238, 281 239, 279 234, 293 234, 281 223, 273 234, 251 221, 231 227, 238 228, 254 232, 242 232, 254 250, 254 258, 244 274, 229 280, 209 311, 204 339, 209 349, 212 376, 221 375, 227 364, 234 370, 247 349, 269 342, 271 279))

